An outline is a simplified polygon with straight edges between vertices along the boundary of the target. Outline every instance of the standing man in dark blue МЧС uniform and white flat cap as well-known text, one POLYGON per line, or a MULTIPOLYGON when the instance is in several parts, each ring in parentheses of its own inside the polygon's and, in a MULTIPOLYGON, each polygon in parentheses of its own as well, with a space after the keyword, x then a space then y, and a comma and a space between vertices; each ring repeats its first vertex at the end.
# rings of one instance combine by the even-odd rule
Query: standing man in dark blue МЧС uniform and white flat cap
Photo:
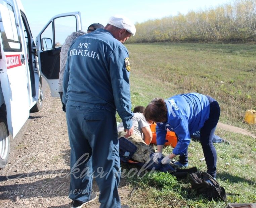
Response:
POLYGON ((126 137, 131 136, 130 62, 123 43, 135 32, 129 19, 113 16, 104 29, 77 38, 68 52, 62 101, 71 147, 71 207, 95 199, 92 174, 100 190, 100 207, 121 207, 115 114, 117 110, 126 137))

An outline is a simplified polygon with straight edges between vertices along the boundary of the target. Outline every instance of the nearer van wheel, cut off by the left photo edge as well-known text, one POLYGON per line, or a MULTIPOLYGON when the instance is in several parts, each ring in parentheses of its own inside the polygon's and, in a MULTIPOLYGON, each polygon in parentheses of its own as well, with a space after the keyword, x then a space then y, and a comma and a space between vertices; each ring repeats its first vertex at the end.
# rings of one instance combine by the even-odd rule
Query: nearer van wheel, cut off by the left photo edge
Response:
POLYGON ((10 153, 10 138, 5 122, 0 118, 0 169, 7 164, 10 153))

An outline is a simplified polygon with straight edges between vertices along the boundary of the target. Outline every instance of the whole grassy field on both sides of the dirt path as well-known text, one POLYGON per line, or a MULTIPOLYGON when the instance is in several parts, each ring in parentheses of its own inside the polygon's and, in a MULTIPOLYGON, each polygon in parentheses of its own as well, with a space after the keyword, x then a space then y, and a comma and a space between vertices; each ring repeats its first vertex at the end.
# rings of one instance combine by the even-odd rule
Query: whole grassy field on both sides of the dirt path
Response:
MULTIPOLYGON (((256 45, 154 43, 126 47, 130 54, 132 107, 146 106, 155 97, 188 92, 207 94, 219 102, 221 122, 256 135, 256 125, 243 122, 246 109, 256 110, 256 45)), ((191 190, 188 178, 177 181, 172 175, 161 173, 147 179, 127 179, 137 187, 131 207, 225 207, 233 202, 255 203, 255 139, 219 128, 216 134, 231 143, 215 144, 217 180, 226 193, 239 195, 228 196, 226 202, 208 201, 191 190)), ((171 147, 164 149, 166 153, 171 151, 171 147)), ((206 171, 205 161, 200 161, 204 157, 200 143, 191 142, 188 151, 189 166, 206 171)))

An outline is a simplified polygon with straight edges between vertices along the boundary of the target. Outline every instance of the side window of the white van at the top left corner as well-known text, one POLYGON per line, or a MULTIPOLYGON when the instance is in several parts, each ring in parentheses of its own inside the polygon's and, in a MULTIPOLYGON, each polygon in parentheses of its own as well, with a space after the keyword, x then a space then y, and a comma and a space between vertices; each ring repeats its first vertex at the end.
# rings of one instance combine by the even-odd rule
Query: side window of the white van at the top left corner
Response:
POLYGON ((10 4, 0 4, 0 30, 4 51, 22 51, 18 24, 10 4))

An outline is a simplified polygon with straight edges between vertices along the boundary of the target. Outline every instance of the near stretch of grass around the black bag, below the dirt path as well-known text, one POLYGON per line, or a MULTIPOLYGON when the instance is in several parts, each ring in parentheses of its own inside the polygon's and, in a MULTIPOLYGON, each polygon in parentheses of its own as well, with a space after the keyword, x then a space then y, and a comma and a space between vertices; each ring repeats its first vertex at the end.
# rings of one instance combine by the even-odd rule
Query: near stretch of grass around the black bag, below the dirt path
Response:
MULTIPOLYGON (((217 181, 225 188, 226 202, 209 201, 191 189, 189 178, 176 180, 169 173, 146 174, 142 178, 127 178, 131 186, 138 187, 132 196, 130 205, 138 208, 164 207, 225 207, 228 203, 256 203, 256 143, 248 136, 231 134, 218 129, 217 135, 228 139, 231 145, 214 144, 217 155, 217 181), (229 165, 227 164, 229 163, 229 165), (236 195, 239 194, 239 195, 236 195)), ((170 146, 164 153, 170 153, 170 146)), ((200 143, 191 141, 189 145, 189 166, 206 171, 200 143)), ((142 176, 144 175, 141 174, 142 176)))

